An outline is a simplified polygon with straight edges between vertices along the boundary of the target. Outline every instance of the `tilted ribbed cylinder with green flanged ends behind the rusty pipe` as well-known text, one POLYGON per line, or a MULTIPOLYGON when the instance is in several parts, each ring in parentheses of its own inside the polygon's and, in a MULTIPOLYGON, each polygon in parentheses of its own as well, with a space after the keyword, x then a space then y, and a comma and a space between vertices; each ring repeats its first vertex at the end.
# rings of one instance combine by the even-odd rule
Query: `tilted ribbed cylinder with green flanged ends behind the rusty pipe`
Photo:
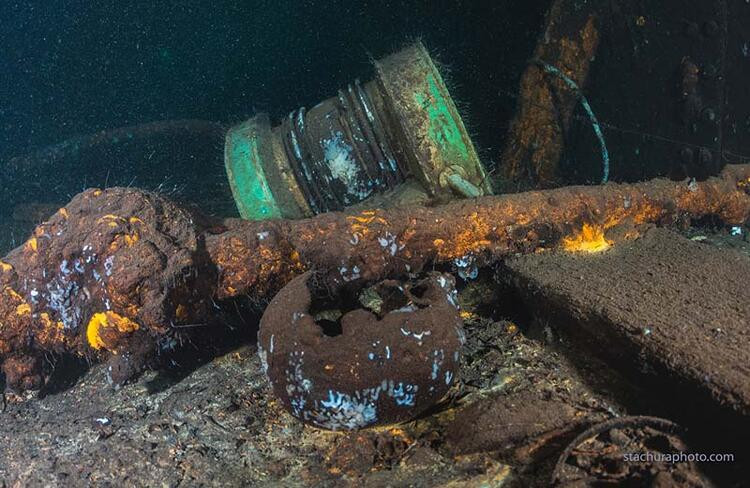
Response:
POLYGON ((421 42, 374 62, 375 79, 231 128, 225 164, 240 215, 300 218, 378 193, 381 206, 491 194, 474 145, 421 42))

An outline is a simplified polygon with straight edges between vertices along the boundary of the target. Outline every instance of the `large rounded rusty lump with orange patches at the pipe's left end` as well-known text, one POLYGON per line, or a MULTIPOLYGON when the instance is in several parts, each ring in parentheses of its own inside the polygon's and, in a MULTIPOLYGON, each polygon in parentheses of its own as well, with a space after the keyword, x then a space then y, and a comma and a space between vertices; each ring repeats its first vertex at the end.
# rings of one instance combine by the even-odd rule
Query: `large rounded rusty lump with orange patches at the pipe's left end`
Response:
POLYGON ((0 264, 6 386, 40 386, 44 352, 111 358, 114 383, 142 370, 172 324, 208 314, 196 232, 188 211, 125 189, 84 192, 37 226, 0 264))

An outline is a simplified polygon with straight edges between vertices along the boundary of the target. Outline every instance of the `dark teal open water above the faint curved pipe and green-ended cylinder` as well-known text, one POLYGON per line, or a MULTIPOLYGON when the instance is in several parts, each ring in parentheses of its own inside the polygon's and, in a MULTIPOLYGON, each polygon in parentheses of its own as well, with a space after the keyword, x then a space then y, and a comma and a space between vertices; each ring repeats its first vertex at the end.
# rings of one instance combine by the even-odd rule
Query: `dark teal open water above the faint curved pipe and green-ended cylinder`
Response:
POLYGON ((162 119, 281 116, 421 37, 487 154, 549 1, 5 1, 0 160, 162 119), (498 96, 499 91, 503 94, 498 96))

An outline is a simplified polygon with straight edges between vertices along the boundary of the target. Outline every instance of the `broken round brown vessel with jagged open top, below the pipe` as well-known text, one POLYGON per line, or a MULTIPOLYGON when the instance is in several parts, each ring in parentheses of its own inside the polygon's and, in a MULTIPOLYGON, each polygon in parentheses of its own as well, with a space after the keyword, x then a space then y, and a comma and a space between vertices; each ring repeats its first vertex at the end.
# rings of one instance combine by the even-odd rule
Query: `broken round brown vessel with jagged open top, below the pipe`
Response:
POLYGON ((258 332, 263 368, 292 415, 361 429, 411 419, 447 393, 464 340, 451 275, 383 281, 344 296, 348 307, 330 303, 315 281, 306 273, 284 287, 258 332))

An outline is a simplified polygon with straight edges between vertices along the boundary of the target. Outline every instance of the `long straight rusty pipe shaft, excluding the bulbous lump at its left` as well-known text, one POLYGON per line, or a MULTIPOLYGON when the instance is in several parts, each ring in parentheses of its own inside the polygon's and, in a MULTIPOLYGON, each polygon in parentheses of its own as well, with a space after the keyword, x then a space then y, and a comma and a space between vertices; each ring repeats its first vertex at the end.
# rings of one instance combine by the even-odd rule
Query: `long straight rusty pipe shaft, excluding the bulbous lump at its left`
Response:
POLYGON ((750 215, 749 177, 750 166, 734 165, 701 183, 656 179, 301 221, 228 221, 225 232, 207 236, 206 247, 219 270, 220 299, 270 296, 280 283, 311 267, 328 270, 330 285, 337 287, 439 263, 453 263, 461 271, 509 254, 554 248, 575 241, 584 230, 617 238, 632 235, 634 225, 669 225, 705 215, 741 223, 750 215))

